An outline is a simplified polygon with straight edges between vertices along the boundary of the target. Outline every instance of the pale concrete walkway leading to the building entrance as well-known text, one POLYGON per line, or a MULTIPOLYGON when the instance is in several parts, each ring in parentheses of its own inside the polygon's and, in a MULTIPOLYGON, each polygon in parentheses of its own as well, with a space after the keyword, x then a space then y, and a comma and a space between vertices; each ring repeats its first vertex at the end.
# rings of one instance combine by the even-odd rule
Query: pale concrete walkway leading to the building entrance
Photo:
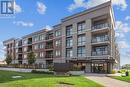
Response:
POLYGON ((86 78, 102 84, 105 87, 130 87, 130 83, 112 79, 110 77, 107 77, 106 74, 88 73, 86 74, 86 78))

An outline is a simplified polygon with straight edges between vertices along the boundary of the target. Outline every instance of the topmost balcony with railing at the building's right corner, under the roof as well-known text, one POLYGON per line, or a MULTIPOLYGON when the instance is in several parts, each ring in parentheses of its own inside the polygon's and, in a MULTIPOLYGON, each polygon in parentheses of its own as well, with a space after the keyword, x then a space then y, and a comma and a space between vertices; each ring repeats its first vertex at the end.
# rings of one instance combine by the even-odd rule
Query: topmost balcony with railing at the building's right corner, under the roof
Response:
POLYGON ((106 29, 110 29, 110 27, 111 26, 108 23, 97 24, 92 26, 92 31, 106 30, 106 29))

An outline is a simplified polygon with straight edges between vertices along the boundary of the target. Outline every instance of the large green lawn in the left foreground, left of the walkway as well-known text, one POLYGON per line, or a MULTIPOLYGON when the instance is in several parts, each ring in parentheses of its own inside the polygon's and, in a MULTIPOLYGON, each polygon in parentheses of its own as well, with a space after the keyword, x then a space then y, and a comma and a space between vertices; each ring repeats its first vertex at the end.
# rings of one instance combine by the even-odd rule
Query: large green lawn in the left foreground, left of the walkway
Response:
POLYGON ((72 87, 103 87, 83 76, 65 77, 48 74, 0 71, 0 87, 71 87, 61 86, 59 82, 73 84, 72 87), (12 78, 12 76, 22 76, 22 78, 12 78))

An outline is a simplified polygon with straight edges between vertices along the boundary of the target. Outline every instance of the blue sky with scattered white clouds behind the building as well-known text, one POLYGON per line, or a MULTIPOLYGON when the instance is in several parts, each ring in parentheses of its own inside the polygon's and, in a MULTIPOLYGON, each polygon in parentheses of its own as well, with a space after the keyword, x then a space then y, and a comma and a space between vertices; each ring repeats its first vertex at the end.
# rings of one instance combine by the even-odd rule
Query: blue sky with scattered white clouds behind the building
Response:
MULTIPOLYGON (((51 29, 62 18, 106 1, 109 0, 15 0, 15 17, 0 17, 0 60, 5 58, 4 40, 22 37, 43 28, 51 29)), ((121 65, 130 64, 130 0, 112 0, 112 4, 121 65)))

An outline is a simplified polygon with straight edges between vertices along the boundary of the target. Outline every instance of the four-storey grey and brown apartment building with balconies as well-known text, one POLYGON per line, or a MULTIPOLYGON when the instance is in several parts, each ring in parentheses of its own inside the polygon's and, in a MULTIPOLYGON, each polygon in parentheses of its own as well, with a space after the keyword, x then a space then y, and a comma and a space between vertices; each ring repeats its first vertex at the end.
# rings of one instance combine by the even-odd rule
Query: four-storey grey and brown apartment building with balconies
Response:
POLYGON ((111 2, 106 2, 61 19, 52 30, 42 29, 3 43, 12 63, 27 64, 27 54, 33 51, 35 63, 44 67, 71 62, 85 66, 86 72, 109 73, 120 65, 114 28, 111 2))

